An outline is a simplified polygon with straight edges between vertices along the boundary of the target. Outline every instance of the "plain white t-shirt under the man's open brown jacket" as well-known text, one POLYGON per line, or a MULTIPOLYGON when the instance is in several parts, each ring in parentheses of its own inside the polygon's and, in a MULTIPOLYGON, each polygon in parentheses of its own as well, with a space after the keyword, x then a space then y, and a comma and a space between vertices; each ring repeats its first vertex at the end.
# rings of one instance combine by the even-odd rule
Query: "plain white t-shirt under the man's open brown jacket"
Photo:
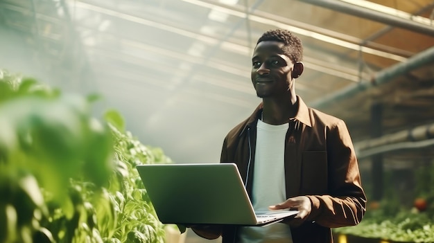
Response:
MULTIPOLYGON (((284 157, 288 126, 288 123, 270 125, 258 120, 252 190, 254 210, 268 210, 268 206, 286 201, 284 157)), ((243 243, 293 242, 287 224, 241 227, 238 235, 243 243)))

